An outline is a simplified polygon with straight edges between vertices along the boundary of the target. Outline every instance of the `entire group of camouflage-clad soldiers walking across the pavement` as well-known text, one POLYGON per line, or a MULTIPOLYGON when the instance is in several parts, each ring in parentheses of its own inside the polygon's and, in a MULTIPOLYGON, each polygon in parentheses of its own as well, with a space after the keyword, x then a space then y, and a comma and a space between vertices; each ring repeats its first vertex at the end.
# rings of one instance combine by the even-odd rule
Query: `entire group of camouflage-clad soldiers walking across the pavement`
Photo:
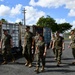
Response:
MULTIPOLYGON (((22 54, 26 59, 25 66, 32 67, 32 62, 34 61, 34 55, 36 58, 36 68, 35 72, 39 72, 40 67, 40 59, 42 61, 41 72, 44 71, 45 67, 45 58, 47 53, 47 44, 45 44, 44 37, 40 33, 36 32, 34 36, 32 32, 30 32, 30 27, 26 26, 24 35, 24 43, 23 43, 23 51, 22 54)), ((2 43, 4 44, 3 49, 3 60, 2 64, 7 63, 7 53, 12 56, 12 62, 15 62, 14 55, 11 52, 11 48, 13 46, 12 37, 8 34, 7 30, 4 30, 5 37, 2 39, 2 43)), ((55 34, 52 34, 52 39, 50 41, 49 46, 55 55, 55 60, 57 61, 57 66, 61 64, 61 55, 62 51, 65 48, 64 37, 60 36, 60 32, 57 31, 55 34)), ((71 31, 71 42, 69 47, 72 48, 72 53, 75 58, 75 32, 71 31)), ((75 62, 73 62, 75 64, 75 62)))

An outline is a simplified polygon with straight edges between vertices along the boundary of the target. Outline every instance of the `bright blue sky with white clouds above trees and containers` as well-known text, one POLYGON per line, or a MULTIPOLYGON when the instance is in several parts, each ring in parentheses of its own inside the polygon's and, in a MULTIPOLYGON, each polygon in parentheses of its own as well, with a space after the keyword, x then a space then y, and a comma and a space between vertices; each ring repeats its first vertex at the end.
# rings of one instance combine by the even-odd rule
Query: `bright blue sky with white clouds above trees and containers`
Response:
POLYGON ((75 0, 0 0, 0 19, 23 22, 24 8, 26 25, 36 24, 41 16, 49 15, 57 23, 68 22, 75 27, 75 0))

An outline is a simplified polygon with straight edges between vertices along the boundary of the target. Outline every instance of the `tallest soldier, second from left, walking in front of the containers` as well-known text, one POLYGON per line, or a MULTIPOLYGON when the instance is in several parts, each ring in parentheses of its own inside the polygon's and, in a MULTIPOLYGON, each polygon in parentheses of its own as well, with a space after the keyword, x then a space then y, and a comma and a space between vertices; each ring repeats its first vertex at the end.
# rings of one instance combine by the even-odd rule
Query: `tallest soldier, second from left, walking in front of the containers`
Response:
POLYGON ((25 66, 32 66, 32 46, 33 46, 33 34, 29 31, 30 27, 26 26, 26 32, 24 36, 24 57, 26 59, 25 66))

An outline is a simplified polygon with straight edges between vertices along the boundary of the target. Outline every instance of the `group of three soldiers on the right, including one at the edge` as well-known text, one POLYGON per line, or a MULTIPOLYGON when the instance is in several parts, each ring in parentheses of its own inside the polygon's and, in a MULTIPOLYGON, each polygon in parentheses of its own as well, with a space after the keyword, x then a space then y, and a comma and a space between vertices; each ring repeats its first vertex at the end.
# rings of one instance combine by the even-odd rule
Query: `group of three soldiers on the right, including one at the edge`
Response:
MULTIPOLYGON (((68 48, 72 49, 72 55, 75 59, 75 30, 71 30, 70 39, 71 41, 68 45, 68 48)), ((60 36, 59 31, 57 31, 55 34, 52 34, 50 48, 53 50, 55 55, 54 59, 57 61, 57 66, 59 66, 61 64, 62 51, 65 49, 64 37, 60 36)), ((75 64, 75 61, 72 62, 72 64, 75 64)))

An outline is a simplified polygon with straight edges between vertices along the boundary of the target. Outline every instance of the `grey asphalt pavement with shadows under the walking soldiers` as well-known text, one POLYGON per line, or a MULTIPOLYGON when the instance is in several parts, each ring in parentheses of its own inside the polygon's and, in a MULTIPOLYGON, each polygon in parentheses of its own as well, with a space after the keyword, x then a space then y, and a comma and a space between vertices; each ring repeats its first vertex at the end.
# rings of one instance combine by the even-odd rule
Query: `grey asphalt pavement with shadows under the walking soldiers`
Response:
MULTIPOLYGON (((60 67, 56 66, 52 50, 47 50, 45 72, 39 75, 75 75, 75 65, 72 65, 73 56, 70 48, 65 45, 65 50, 62 55, 62 64, 60 67)), ((15 63, 9 62, 6 65, 0 65, 0 75, 37 75, 34 72, 36 61, 33 62, 33 67, 28 68, 24 66, 25 59, 19 58, 15 63)))

